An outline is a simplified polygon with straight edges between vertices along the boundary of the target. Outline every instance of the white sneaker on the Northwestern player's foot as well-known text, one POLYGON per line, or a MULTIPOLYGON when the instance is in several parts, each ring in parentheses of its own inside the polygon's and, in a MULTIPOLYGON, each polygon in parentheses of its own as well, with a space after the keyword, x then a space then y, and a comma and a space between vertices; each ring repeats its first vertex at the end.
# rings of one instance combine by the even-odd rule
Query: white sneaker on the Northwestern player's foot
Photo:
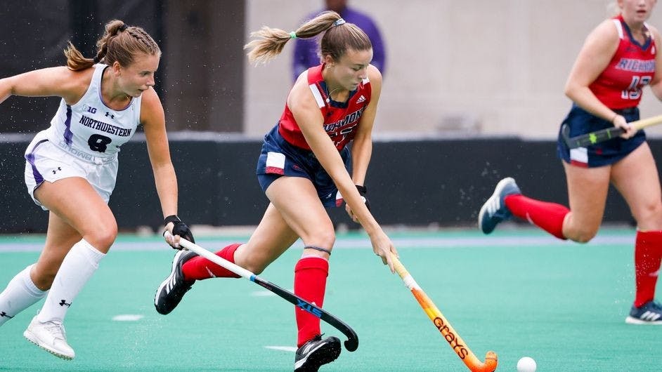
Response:
POLYGON ((67 344, 65 326, 62 324, 53 321, 41 323, 35 316, 23 332, 23 336, 58 358, 71 360, 76 356, 74 350, 67 344))

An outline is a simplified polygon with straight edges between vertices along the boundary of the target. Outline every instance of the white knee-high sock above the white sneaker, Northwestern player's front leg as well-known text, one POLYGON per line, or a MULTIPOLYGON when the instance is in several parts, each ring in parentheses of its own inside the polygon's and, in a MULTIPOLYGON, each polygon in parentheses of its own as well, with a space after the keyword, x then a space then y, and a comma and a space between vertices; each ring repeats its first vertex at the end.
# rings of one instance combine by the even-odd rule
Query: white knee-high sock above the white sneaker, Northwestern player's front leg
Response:
POLYGON ((62 323, 67 310, 73 303, 83 286, 99 267, 99 262, 105 254, 81 240, 71 247, 53 280, 51 291, 46 296, 44 307, 37 315, 42 323, 54 321, 62 323))

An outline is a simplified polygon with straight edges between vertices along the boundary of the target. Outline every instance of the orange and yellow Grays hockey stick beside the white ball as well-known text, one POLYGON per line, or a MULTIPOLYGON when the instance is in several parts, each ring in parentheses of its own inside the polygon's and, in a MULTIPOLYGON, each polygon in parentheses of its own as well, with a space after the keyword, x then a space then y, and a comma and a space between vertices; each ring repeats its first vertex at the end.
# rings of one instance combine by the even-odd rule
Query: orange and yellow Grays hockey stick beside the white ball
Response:
POLYGON ((480 359, 476 358, 476 355, 469 349, 464 340, 460 335, 455 331, 453 326, 450 326, 448 319, 441 314, 441 311, 434 305, 432 300, 425 294, 421 287, 416 283, 414 278, 409 274, 407 269, 402 265, 400 260, 391 253, 391 260, 393 261, 393 266, 405 282, 405 286, 410 289, 418 303, 423 308, 427 317, 430 318, 434 326, 439 330, 441 336, 448 342, 448 345, 453 349, 457 357, 460 357, 465 363, 467 368, 472 372, 492 372, 497 368, 498 357, 497 354, 493 351, 487 352, 485 355, 485 362, 483 363, 480 359))

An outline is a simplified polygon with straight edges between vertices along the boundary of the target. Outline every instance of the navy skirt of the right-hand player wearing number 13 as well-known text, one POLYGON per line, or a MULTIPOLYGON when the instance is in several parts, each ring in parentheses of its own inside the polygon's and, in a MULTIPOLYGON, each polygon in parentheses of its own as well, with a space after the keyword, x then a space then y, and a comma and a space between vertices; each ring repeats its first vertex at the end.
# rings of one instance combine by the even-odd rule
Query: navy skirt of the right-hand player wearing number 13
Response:
MULTIPOLYGON (((625 121, 628 121, 628 123, 630 121, 639 120, 638 107, 616 109, 614 112, 623 115, 625 121)), ((611 124, 609 121, 596 117, 576 104, 572 105, 563 124, 569 126, 570 137, 614 126, 614 124, 611 124)), ((563 159, 566 163, 586 168, 595 168, 616 163, 616 161, 628 156, 630 152, 635 151, 637 147, 645 141, 646 133, 644 133, 644 131, 638 131, 637 134, 628 140, 616 137, 611 140, 596 143, 595 145, 569 149, 564 142, 561 130, 559 129, 557 154, 559 158, 563 159)))

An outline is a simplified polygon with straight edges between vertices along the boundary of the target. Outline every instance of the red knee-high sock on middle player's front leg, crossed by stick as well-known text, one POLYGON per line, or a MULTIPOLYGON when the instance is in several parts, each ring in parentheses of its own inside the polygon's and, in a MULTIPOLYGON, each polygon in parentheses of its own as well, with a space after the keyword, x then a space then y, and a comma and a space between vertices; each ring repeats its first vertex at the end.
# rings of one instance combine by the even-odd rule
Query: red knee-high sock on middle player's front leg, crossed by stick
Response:
MULTIPOLYGON (((294 293, 309 303, 322 307, 329 261, 320 257, 301 258, 294 267, 294 293)), ((300 307, 294 307, 297 318, 297 347, 319 335, 320 319, 300 307)))

